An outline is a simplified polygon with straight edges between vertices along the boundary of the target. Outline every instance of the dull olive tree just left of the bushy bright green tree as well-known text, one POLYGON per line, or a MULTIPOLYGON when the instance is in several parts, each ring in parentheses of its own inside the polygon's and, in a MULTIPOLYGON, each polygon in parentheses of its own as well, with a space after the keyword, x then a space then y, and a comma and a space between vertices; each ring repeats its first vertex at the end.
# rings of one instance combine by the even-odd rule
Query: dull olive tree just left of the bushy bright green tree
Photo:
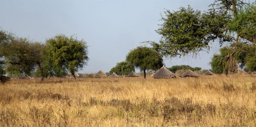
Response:
POLYGON ((35 45, 27 38, 13 37, 5 47, 5 67, 8 75, 31 75, 39 58, 35 45))

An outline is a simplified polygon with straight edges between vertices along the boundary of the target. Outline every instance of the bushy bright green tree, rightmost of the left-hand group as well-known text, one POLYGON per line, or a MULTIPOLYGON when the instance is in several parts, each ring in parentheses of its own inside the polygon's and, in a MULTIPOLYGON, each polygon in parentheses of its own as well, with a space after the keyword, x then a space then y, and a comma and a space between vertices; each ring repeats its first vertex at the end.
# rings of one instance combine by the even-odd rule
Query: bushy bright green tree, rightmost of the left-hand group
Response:
POLYGON ((46 40, 46 48, 43 50, 43 59, 55 75, 59 72, 70 72, 74 78, 75 72, 87 65, 88 46, 82 39, 67 37, 64 34, 46 40))

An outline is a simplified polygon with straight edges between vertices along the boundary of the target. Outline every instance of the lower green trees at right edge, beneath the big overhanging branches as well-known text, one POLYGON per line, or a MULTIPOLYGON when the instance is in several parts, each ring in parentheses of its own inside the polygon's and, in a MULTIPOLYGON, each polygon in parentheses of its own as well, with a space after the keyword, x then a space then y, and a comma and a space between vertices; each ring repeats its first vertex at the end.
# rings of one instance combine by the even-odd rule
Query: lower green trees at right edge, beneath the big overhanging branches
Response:
POLYGON ((235 50, 234 43, 230 46, 221 48, 220 54, 213 55, 210 62, 213 73, 237 72, 238 67, 236 63, 240 65, 240 68, 246 66, 246 70, 253 71, 256 69, 255 47, 245 43, 238 43, 237 46, 238 50, 232 55, 232 57, 227 56, 232 54, 235 50))

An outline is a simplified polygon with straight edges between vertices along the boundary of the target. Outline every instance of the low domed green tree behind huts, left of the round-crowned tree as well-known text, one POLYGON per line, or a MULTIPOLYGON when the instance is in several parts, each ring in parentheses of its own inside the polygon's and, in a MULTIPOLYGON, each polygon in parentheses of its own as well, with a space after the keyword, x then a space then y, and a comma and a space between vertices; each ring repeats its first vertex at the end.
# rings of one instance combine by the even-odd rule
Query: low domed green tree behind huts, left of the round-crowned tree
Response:
POLYGON ((120 63, 117 63, 115 67, 113 67, 110 70, 110 74, 113 72, 116 73, 117 75, 128 75, 131 73, 131 71, 135 72, 134 66, 130 63, 127 63, 126 61, 122 61, 120 63))

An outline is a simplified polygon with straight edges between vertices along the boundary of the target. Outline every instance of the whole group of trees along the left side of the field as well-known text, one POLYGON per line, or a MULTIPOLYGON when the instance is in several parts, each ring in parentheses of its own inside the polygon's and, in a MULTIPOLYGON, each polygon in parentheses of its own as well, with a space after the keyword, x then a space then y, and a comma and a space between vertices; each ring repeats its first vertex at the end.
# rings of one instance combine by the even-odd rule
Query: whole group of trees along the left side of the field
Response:
POLYGON ((0 75, 10 77, 36 75, 63 77, 87 65, 88 49, 84 40, 57 34, 45 43, 0 30, 0 75))

